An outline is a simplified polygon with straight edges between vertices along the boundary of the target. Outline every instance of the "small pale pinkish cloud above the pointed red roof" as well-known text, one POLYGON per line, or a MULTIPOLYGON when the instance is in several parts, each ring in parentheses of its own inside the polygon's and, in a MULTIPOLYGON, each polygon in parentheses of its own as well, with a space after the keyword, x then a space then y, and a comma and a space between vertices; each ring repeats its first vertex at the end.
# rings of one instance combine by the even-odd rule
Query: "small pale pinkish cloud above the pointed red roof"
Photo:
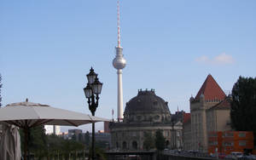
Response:
POLYGON ((202 55, 201 57, 198 57, 195 59, 195 61, 200 63, 207 63, 207 64, 213 64, 213 65, 226 65, 226 64, 233 64, 235 62, 234 58, 231 55, 228 54, 218 54, 217 56, 213 57, 212 59, 207 57, 207 55, 202 55))

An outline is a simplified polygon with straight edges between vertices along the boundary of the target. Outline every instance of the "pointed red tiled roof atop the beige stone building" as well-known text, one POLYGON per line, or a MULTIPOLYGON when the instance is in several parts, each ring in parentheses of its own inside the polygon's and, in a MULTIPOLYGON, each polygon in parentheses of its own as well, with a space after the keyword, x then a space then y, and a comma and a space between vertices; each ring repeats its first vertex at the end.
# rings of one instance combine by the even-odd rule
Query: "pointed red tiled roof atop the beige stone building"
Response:
POLYGON ((201 89, 195 96, 195 100, 199 100, 201 94, 204 94, 205 100, 224 100, 226 97, 226 94, 218 86, 211 74, 207 76, 206 81, 202 84, 201 89))

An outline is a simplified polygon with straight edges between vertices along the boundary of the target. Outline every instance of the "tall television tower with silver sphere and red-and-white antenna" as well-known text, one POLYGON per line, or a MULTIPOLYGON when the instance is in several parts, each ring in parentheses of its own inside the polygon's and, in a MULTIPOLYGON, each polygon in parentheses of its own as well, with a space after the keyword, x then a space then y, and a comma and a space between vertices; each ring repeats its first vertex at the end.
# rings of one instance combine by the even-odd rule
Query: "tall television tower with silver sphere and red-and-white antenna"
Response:
POLYGON ((119 0, 117 1, 117 18, 118 18, 118 45, 115 47, 116 55, 113 59, 113 67, 117 69, 118 75, 118 120, 123 119, 123 82, 122 82, 122 70, 125 68, 126 60, 123 55, 123 48, 120 44, 120 13, 119 13, 119 0))

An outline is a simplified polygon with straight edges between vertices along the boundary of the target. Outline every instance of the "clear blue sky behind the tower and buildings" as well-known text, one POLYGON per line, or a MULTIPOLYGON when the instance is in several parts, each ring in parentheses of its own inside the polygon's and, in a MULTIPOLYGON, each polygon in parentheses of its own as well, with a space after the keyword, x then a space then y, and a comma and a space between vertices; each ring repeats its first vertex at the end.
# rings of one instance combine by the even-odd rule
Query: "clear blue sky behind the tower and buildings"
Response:
MULTIPOLYGON (((209 73, 224 91, 255 77, 256 1, 121 0, 120 9, 124 106, 137 89, 155 89, 172 113, 189 111, 209 73)), ((90 113, 83 88, 93 66, 103 83, 96 116, 116 117, 116 16, 115 0, 1 0, 3 106, 28 98, 90 113)))

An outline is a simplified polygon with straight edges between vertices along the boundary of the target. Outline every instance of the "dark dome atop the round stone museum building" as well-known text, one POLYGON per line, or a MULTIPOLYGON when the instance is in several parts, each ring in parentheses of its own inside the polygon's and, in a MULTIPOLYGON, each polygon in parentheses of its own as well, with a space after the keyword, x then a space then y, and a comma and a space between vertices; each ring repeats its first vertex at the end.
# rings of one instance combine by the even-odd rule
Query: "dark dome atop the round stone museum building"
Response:
POLYGON ((136 97, 132 98, 125 106, 125 114, 137 113, 137 112, 159 112, 170 113, 168 103, 161 99, 154 93, 154 89, 151 90, 138 90, 136 97))

